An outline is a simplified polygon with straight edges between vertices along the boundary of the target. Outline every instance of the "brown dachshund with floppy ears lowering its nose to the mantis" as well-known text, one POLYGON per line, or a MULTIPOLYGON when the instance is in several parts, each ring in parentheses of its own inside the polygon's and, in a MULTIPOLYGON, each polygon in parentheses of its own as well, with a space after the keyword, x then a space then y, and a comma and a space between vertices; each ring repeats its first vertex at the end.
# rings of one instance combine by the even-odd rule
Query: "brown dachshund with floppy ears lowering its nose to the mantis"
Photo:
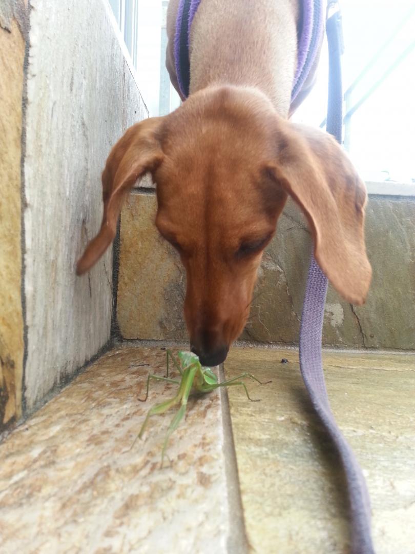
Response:
MULTIPOLYGON (((167 51, 175 86, 177 5, 170 0, 167 51)), ((190 33, 190 96, 172 114, 133 125, 112 148, 101 230, 77 264, 85 273, 105 252, 123 198, 151 172, 155 225, 185 267, 191 348, 207 366, 223 362, 243 330, 288 195, 307 217, 334 288, 354 304, 369 288, 364 183, 331 136, 288 121, 297 24, 294 1, 201 1, 190 33)))

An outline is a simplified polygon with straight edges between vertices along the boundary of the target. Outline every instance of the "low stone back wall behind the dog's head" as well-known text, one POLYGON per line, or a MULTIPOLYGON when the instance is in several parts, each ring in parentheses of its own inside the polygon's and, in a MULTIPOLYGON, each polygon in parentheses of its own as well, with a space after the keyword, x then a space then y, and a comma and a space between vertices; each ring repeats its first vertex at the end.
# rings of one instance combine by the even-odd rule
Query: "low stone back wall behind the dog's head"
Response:
MULTIPOLYGON (((153 225, 155 196, 134 192, 121 217, 117 319, 124 338, 186 338, 185 275, 153 225)), ((370 197, 366 243, 373 280, 364 306, 329 288, 326 346, 415 348, 415 199, 370 197)), ((297 344, 311 237, 293 202, 268 246, 242 339, 297 344)))

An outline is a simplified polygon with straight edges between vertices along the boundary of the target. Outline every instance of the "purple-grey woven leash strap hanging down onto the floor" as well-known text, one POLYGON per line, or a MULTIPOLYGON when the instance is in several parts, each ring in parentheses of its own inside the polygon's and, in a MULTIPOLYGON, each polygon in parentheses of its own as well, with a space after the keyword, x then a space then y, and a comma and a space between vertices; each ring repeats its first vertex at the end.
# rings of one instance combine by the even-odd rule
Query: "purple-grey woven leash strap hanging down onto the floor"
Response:
MULTIPOLYGON (((337 2, 329 2, 329 4, 337 4, 337 2)), ((329 43, 327 131, 341 143, 343 93, 340 57, 343 42, 339 11, 328 18, 326 33, 329 43)), ((354 453, 335 422, 324 382, 321 336, 327 285, 328 280, 312 254, 300 327, 300 368, 313 407, 333 440, 343 463, 350 502, 352 554, 374 554, 370 526, 370 500, 365 479, 354 453)))

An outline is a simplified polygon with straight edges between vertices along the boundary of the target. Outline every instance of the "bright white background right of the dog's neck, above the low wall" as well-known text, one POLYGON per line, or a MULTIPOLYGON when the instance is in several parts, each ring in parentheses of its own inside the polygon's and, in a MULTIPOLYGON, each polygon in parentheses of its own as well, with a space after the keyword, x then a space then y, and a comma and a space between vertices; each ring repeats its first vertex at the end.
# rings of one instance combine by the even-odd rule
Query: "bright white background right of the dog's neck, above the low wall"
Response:
MULTIPOLYGON (((344 91, 376 56, 375 63, 356 84, 345 112, 381 81, 351 116, 346 148, 366 181, 415 183, 413 0, 347 0, 341 2, 341 13, 345 43, 344 91)), ((318 81, 295 114, 295 120, 320 124, 326 112, 327 81, 325 49, 318 81)))

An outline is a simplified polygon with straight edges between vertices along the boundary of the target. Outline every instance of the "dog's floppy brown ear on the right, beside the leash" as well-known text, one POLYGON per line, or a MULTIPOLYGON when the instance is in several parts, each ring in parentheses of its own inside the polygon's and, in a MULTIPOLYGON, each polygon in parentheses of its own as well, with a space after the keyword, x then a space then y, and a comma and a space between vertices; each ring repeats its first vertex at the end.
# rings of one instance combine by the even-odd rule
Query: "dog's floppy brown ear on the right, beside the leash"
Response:
POLYGON ((297 202, 314 236, 315 258, 334 288, 363 304, 371 280, 364 240, 366 188, 338 143, 323 131, 277 121, 268 172, 297 202))

